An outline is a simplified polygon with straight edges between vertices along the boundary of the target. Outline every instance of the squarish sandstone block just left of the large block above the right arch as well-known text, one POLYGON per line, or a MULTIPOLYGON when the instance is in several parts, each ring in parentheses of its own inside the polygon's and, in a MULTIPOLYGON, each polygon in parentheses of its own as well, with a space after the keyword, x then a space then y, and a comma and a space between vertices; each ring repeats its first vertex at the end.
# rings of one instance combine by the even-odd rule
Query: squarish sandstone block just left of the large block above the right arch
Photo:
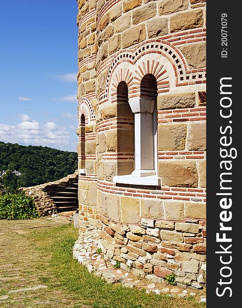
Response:
POLYGON ((168 18, 155 17, 146 24, 148 38, 165 35, 168 33, 168 18))

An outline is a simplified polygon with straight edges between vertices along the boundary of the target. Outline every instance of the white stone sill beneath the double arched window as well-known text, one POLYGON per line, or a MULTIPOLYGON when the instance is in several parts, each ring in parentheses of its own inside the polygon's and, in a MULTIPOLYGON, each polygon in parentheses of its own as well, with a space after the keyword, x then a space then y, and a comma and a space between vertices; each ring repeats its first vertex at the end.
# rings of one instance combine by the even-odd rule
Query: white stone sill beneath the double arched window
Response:
POLYGON ((130 184, 130 185, 148 185, 148 186, 160 186, 160 178, 157 176, 147 177, 133 177, 132 175, 115 176, 113 182, 118 184, 130 184))

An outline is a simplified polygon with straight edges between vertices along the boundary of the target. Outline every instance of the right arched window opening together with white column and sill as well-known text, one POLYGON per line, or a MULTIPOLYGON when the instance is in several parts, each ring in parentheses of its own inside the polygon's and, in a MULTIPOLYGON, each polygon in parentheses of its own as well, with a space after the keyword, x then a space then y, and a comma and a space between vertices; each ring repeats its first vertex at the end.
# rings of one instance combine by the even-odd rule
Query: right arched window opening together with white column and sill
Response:
MULTIPOLYGON (((126 86, 122 84, 119 88, 118 97, 123 101, 127 93, 126 86)), ((143 77, 140 96, 128 102, 134 114, 134 170, 127 176, 114 177, 114 182, 160 185, 157 176, 157 81, 154 75, 146 74, 143 77)))

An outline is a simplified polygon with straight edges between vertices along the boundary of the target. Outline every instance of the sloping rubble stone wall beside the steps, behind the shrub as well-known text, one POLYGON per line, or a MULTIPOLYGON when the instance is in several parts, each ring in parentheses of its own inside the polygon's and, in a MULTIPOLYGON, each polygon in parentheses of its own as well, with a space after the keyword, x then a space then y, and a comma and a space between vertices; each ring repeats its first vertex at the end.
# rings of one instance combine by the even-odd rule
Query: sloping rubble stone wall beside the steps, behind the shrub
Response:
POLYGON ((27 196, 34 198, 34 204, 41 216, 50 216, 52 214, 57 214, 55 202, 50 199, 50 195, 76 182, 77 178, 78 175, 73 174, 55 182, 48 182, 31 187, 21 187, 19 190, 24 191, 27 196))

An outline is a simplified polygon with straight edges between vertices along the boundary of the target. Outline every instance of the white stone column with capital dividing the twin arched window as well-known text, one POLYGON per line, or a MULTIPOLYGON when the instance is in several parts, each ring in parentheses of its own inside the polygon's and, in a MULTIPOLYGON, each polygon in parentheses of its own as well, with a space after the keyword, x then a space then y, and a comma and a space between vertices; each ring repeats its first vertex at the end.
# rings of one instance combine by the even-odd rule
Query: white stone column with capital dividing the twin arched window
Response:
POLYGON ((132 177, 153 176, 154 162, 154 122, 155 99, 133 98, 129 100, 134 113, 135 169, 132 177))

